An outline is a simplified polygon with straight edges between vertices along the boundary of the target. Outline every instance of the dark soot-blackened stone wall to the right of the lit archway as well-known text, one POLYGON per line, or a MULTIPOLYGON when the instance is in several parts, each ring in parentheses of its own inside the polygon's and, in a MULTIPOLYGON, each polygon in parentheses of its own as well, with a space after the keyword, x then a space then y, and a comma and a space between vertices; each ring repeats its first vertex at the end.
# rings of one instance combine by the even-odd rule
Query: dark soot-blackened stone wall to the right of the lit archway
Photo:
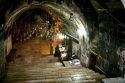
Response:
MULTIPOLYGON (((92 4, 96 6, 95 3, 92 4)), ((94 61, 96 62, 94 64, 95 69, 102 71, 108 76, 122 76, 125 56, 124 10, 122 8, 110 9, 110 11, 108 9, 99 10, 95 9, 96 7, 92 7, 89 2, 87 5, 79 7, 85 16, 88 26, 88 51, 90 52, 89 54, 94 53, 92 55, 96 58, 94 59, 96 60, 94 61)), ((117 4, 115 7, 117 7, 117 4)))

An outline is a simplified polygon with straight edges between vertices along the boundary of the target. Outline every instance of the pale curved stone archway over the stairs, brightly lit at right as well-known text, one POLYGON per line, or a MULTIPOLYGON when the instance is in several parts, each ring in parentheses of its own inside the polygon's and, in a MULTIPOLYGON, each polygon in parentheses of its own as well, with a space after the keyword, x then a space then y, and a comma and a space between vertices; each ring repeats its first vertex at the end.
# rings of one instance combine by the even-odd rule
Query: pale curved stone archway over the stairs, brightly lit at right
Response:
POLYGON ((75 40, 79 41, 78 49, 81 49, 79 51, 80 58, 82 57, 81 59, 83 60, 86 59, 84 60, 83 63, 88 65, 87 49, 89 47, 88 46, 89 38, 87 32, 87 25, 85 24, 84 20, 81 20, 80 16, 78 16, 75 12, 71 11, 70 9, 63 7, 62 5, 55 4, 52 2, 42 2, 42 3, 33 2, 32 4, 21 5, 7 16, 4 28, 8 29, 13 24, 13 22, 20 17, 20 15, 23 12, 30 9, 42 9, 48 12, 48 14, 50 14, 52 17, 53 15, 58 16, 62 23, 61 25, 66 31, 66 34, 70 35, 70 37, 73 37, 75 40), (71 16, 71 13, 73 14, 73 16, 71 16), (70 20, 70 18, 72 18, 72 20, 70 20), (79 32, 77 32, 78 30, 82 32, 82 35, 79 35, 79 32))

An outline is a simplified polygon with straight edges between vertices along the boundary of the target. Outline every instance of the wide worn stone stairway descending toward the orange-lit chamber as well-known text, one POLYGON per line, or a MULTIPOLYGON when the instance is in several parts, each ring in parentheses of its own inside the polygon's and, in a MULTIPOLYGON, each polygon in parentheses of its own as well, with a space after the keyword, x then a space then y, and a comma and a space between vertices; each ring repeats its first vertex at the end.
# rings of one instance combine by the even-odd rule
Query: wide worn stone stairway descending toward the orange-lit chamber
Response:
POLYGON ((104 77, 83 67, 63 67, 53 56, 19 57, 8 64, 4 83, 99 83, 104 77))

